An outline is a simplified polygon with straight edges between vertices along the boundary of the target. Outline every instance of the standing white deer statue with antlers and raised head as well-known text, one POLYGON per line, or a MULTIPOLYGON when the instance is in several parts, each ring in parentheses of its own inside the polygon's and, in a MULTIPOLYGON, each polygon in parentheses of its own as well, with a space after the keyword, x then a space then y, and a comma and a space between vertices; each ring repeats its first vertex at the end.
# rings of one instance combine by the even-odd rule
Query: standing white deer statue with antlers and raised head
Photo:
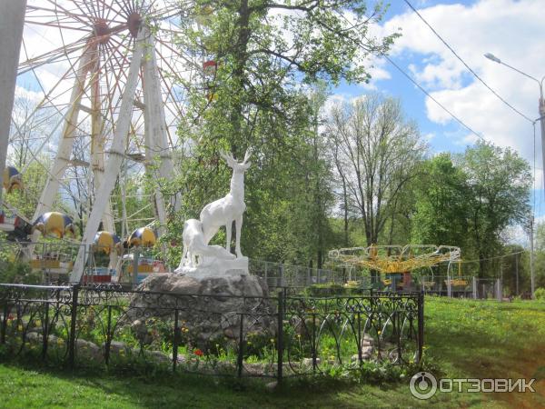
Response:
POLYGON ((241 232, 243 229, 243 213, 246 210, 244 204, 244 173, 251 165, 248 159, 250 159, 252 152, 250 149, 246 151, 242 163, 238 163, 232 154, 220 153, 220 155, 227 162, 227 165, 233 168, 231 190, 222 199, 204 206, 200 215, 203 224, 204 243, 210 243, 220 227, 224 225, 227 233, 225 249, 231 252, 231 227, 234 221, 236 225, 235 252, 237 258, 241 258, 243 257, 241 253, 241 232))

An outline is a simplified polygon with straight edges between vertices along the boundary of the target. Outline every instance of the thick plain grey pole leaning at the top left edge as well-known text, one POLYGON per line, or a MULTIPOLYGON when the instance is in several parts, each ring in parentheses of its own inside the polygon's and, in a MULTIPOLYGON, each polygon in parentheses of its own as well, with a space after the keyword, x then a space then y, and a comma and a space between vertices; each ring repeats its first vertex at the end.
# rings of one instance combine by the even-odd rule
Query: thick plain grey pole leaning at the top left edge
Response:
MULTIPOLYGON (((0 205, 26 0, 0 0, 0 205)), ((1 209, 1 207, 0 207, 1 209)))

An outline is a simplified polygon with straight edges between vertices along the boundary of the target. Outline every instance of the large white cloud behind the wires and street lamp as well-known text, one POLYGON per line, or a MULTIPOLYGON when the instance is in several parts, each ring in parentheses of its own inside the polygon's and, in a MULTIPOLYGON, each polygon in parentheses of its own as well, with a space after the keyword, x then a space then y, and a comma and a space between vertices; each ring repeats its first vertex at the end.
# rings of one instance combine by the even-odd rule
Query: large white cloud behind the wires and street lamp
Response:
MULTIPOLYGON (((537 118, 539 88, 530 79, 484 58, 492 53, 530 75, 545 75, 542 33, 543 0, 481 0, 474 5, 434 5, 421 15, 498 94, 530 118, 537 118)), ((391 55, 409 57, 408 69, 431 95, 476 132, 496 145, 510 146, 531 160, 532 128, 528 121, 500 102, 452 55, 418 15, 408 11, 387 21, 383 33, 402 28, 391 55)), ((440 106, 426 101, 429 119, 453 121, 440 106)), ((476 137, 463 134, 460 143, 476 137)), ((540 137, 538 128, 538 145, 540 137)), ((540 156, 540 155, 539 155, 540 156)))

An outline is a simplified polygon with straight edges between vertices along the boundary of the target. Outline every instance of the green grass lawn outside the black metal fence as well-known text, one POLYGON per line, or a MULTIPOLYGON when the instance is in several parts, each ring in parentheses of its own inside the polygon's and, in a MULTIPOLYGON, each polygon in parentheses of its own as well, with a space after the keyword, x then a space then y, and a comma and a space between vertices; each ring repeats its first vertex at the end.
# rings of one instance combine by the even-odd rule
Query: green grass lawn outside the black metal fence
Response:
POLYGON ((442 377, 537 379, 536 394, 436 394, 419 401, 408 380, 366 385, 229 384, 194 376, 84 374, 0 364, 0 406, 27 407, 545 407, 545 304, 427 298, 426 356, 442 377))

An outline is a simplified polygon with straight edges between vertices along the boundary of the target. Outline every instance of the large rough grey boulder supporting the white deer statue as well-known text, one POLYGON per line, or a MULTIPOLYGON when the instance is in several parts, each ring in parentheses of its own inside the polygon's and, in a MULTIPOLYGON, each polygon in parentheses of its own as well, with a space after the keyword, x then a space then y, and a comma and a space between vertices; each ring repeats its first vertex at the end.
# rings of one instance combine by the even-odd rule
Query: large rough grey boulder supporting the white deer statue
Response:
POLYGON ((127 317, 141 342, 151 342, 153 321, 173 324, 178 310, 181 335, 194 347, 208 349, 237 340, 243 314, 243 336, 275 334, 275 307, 267 284, 254 275, 204 278, 151 274, 131 297, 127 317))

